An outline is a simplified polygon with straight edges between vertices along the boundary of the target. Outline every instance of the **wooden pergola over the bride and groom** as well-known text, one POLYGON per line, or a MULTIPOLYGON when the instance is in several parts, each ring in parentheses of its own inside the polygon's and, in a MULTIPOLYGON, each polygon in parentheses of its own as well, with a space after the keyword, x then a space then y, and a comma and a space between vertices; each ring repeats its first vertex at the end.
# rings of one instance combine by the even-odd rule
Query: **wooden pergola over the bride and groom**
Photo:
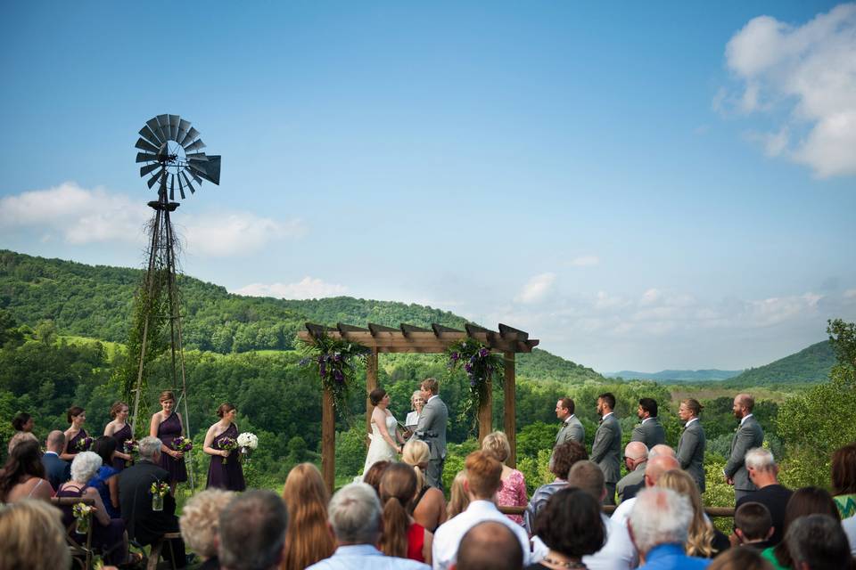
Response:
MULTIPOLYGON (((501 352, 505 357, 505 432, 508 443, 511 444, 511 456, 508 464, 514 467, 517 463, 517 436, 516 423, 514 420, 514 354, 531 353, 532 348, 538 346, 539 341, 530 339, 529 333, 517 330, 505 324, 499 323, 499 330, 489 330, 482 327, 466 324, 465 330, 449 329, 440 324, 432 324, 431 329, 423 329, 410 324, 402 323, 398 329, 385 327, 379 324, 369 323, 368 328, 355 327, 349 324, 338 323, 335 327, 312 322, 306 323, 306 330, 301 330, 299 336, 302 340, 312 342, 315 338, 326 334, 330 338, 342 338, 358 343, 370 349, 366 357, 366 427, 371 418, 372 404, 368 401, 368 394, 377 387, 377 355, 380 353, 418 353, 437 354, 446 351, 464 338, 474 338, 491 351, 501 352)), ((481 403, 478 411, 479 419, 479 441, 487 436, 493 429, 491 421, 492 386, 488 385, 487 400, 481 403)), ((440 392, 442 394, 442 392, 440 392)), ((324 473, 324 481, 327 488, 332 492, 335 480, 335 416, 333 411, 333 394, 325 389, 323 395, 322 417, 321 417, 321 465, 324 473)))

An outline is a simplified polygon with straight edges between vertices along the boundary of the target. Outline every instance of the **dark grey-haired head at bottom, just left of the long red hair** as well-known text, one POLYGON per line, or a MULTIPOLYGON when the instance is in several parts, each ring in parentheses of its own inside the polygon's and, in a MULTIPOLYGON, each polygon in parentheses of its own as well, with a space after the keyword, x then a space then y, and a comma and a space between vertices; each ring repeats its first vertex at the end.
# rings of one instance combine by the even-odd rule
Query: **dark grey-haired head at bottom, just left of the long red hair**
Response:
POLYGON ((220 512, 218 558, 226 570, 268 570, 283 558, 288 513, 273 491, 235 496, 220 512))

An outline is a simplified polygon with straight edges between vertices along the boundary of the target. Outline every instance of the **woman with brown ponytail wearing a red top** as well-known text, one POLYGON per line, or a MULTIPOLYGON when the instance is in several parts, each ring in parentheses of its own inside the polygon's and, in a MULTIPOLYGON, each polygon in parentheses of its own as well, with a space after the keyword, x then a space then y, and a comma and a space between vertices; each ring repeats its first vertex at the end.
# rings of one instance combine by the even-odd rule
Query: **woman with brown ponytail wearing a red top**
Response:
POLYGON ((416 497, 416 473, 404 463, 393 463, 381 478, 383 534, 380 549, 387 556, 431 564, 433 534, 408 515, 416 497))

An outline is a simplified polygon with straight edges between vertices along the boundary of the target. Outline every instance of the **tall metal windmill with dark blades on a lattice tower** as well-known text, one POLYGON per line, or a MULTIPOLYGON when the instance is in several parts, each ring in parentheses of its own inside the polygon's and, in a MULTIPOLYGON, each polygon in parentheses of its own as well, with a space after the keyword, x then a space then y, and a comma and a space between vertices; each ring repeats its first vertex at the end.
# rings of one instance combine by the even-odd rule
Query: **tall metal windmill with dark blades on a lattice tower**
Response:
MULTIPOLYGON (((185 359, 181 340, 181 314, 176 280, 176 239, 169 214, 178 208, 176 186, 181 199, 193 194, 202 180, 220 183, 220 157, 209 156, 202 152, 205 143, 199 138, 199 131, 190 121, 178 115, 158 115, 146 121, 140 129, 140 138, 136 142, 140 152, 136 155, 140 167, 140 176, 149 176, 147 184, 153 188, 157 184, 158 199, 149 202, 154 217, 149 226, 149 265, 144 282, 144 305, 152 306, 152 299, 161 298, 162 305, 168 311, 166 315, 157 311, 145 310, 143 315, 142 343, 139 354, 139 368, 134 389, 134 415, 131 429, 136 434, 137 411, 140 394, 143 391, 144 362, 146 349, 157 330, 169 329, 169 351, 171 357, 172 386, 179 392, 177 404, 184 402, 185 432, 190 434, 190 419, 187 413, 187 383, 185 379, 185 359), (180 389, 179 378, 180 373, 180 389)), ((193 469, 190 471, 190 484, 193 488, 193 469)))

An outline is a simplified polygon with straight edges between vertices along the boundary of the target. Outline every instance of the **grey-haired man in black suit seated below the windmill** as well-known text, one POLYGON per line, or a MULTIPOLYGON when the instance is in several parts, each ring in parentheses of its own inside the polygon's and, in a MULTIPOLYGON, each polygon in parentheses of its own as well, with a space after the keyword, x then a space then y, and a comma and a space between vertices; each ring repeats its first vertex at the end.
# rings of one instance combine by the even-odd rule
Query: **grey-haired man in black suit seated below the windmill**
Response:
MULTIPOLYGON (((152 510, 152 484, 169 485, 169 471, 160 466, 161 440, 151 436, 141 439, 139 456, 134 465, 119 473, 119 510, 128 536, 146 546, 179 529, 176 501, 170 493, 163 497, 163 510, 152 510)), ((161 552, 175 566, 185 567, 185 542, 180 538, 171 539, 161 552)))

